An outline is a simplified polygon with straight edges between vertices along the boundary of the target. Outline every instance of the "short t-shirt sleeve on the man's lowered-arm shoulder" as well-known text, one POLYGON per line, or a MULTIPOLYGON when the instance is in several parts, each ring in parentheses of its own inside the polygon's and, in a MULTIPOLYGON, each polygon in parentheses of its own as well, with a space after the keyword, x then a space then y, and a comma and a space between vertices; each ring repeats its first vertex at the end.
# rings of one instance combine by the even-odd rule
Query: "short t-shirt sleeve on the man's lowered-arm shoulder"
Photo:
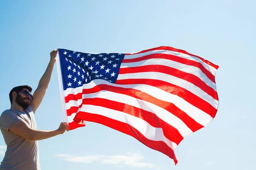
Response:
POLYGON ((18 113, 6 110, 0 116, 0 127, 9 130, 9 128, 19 120, 21 120, 21 118, 18 113))

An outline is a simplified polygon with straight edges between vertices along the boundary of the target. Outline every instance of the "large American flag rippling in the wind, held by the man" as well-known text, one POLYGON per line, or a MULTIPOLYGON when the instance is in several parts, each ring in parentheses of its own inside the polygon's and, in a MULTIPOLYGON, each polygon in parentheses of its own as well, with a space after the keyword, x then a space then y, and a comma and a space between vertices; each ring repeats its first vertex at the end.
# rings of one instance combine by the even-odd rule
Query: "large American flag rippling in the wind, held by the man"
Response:
POLYGON ((174 159, 185 136, 214 119, 218 65, 161 46, 137 53, 58 49, 64 119, 70 130, 96 122, 174 159))

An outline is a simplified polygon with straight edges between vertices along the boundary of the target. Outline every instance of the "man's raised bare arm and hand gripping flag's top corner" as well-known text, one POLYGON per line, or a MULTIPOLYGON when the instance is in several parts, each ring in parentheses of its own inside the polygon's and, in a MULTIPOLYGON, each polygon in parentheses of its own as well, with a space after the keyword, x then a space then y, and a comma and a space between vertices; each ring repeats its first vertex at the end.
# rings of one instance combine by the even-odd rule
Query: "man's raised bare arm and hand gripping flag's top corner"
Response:
POLYGON ((55 63, 55 57, 56 54, 58 53, 58 50, 53 50, 50 53, 50 61, 49 64, 47 66, 46 71, 44 72, 44 75, 42 76, 42 78, 40 79, 39 83, 38 83, 38 87, 36 88, 34 94, 33 94, 33 100, 31 101, 32 106, 33 106, 33 110, 36 111, 38 106, 41 104, 43 98, 44 98, 44 94, 46 92, 46 89, 48 88, 49 82, 51 80, 52 77, 52 70, 54 67, 54 63, 55 63))

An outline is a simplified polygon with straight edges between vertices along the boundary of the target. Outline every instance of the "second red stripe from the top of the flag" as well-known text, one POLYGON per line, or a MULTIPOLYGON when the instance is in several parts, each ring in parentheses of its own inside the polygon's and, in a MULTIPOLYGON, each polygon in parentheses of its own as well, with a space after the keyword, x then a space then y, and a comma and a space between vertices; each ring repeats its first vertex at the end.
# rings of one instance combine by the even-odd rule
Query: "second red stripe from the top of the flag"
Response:
POLYGON ((135 59, 124 59, 122 63, 129 63, 129 62, 139 62, 146 59, 169 59, 175 62, 180 62, 182 64, 191 65, 194 67, 199 68, 212 82, 215 83, 215 76, 207 70, 200 62, 195 62, 190 59, 184 59, 175 55, 170 54, 149 54, 143 57, 135 58, 135 59))

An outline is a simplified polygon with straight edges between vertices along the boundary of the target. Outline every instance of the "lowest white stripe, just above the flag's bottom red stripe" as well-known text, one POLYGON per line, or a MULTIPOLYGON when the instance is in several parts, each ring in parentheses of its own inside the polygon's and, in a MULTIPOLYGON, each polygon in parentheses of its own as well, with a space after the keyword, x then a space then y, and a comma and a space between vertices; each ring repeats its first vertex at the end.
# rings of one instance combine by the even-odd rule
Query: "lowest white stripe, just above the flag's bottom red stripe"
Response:
MULTIPOLYGON (((83 107, 81 108, 81 111, 106 116, 110 119, 127 123, 128 125, 131 125, 135 129, 137 129, 147 139, 153 140, 153 141, 163 141, 172 149, 174 149, 177 146, 175 142, 170 141, 164 136, 162 128, 153 127, 143 119, 137 118, 135 116, 131 116, 127 113, 123 113, 120 111, 115 111, 109 108, 104 108, 104 107, 95 106, 95 105, 83 105, 83 107)), ((68 117, 69 122, 73 122, 73 118, 74 118, 74 114, 72 116, 69 116, 68 117)))

